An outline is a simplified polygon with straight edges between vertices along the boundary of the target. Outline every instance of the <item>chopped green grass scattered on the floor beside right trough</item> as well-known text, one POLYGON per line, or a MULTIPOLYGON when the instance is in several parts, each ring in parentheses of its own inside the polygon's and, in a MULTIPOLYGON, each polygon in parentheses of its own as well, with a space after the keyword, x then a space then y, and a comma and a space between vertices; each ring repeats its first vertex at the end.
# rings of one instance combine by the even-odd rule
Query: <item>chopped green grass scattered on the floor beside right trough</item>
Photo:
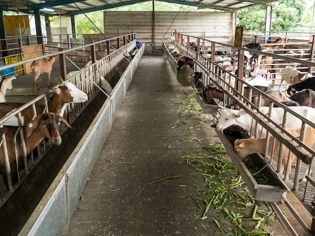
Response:
MULTIPOLYGON (((185 98, 174 99, 179 104, 179 120, 173 129, 186 123, 188 128, 192 127, 188 120, 202 122, 205 116, 194 92, 184 91, 184 94, 185 98)), ((195 129, 189 130, 194 138, 183 142, 207 142, 193 134, 195 129)), ((194 168, 194 176, 203 178, 203 185, 191 184, 195 190, 191 197, 198 208, 192 212, 193 221, 206 221, 216 235, 272 235, 266 227, 276 217, 274 212, 264 203, 255 201, 236 166, 225 160, 226 156, 224 146, 218 142, 208 142, 197 152, 180 156, 186 165, 194 168)))

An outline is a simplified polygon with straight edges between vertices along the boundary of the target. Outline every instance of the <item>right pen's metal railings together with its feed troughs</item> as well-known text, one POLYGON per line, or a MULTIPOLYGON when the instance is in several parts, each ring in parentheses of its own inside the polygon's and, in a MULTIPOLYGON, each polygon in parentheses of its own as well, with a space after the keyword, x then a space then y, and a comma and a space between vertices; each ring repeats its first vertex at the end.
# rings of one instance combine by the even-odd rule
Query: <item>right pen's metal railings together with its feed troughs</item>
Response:
MULTIPOLYGON (((281 65, 282 68, 287 65, 291 65, 294 67, 298 66, 300 71, 305 74, 310 73, 313 76, 313 68, 315 66, 315 63, 313 62, 314 36, 311 36, 308 41, 299 40, 295 37, 292 37, 292 39, 288 37, 283 40, 283 43, 281 45, 277 43, 273 44, 273 41, 278 37, 273 36, 273 38, 274 39, 269 40, 267 44, 264 43, 265 37, 263 36, 244 37, 244 40, 246 41, 246 43, 259 42, 265 47, 276 45, 277 47, 276 49, 273 49, 273 53, 263 51, 257 52, 256 50, 249 51, 261 53, 263 57, 269 57, 269 60, 271 57, 271 63, 281 65), (287 52, 292 50, 294 50, 294 53, 300 55, 300 59, 292 58, 289 54, 287 54, 287 52)), ((244 45, 246 43, 244 43, 244 45)), ((266 154, 251 155, 251 157, 256 162, 255 165, 259 167, 260 171, 264 172, 265 175, 268 176, 269 184, 262 183, 256 179, 256 176, 253 175, 254 173, 251 171, 251 169, 247 167, 245 162, 242 161, 235 153, 233 145, 234 140, 238 138, 231 137, 231 134, 225 133, 224 130, 222 133, 221 131, 216 130, 218 137, 224 144, 226 151, 237 166, 255 199, 270 202, 274 209, 276 209, 276 211, 279 213, 280 217, 283 218, 283 222, 285 222, 285 224, 289 227, 292 234, 298 235, 298 232, 295 231, 295 229, 290 224, 290 221, 281 212, 278 204, 280 201, 284 202, 288 206, 288 208, 291 210, 291 213, 305 230, 311 230, 312 232, 314 232, 314 206, 312 203, 314 200, 315 182, 313 177, 310 175, 306 177, 306 183, 299 182, 300 176, 306 171, 307 165, 311 163, 311 160, 315 154, 314 150, 312 150, 310 146, 307 146, 303 143, 305 128, 307 126, 315 128, 315 124, 313 123, 314 121, 305 119, 305 117, 303 117, 302 115, 294 112, 287 106, 283 105, 281 102, 266 95, 264 92, 251 85, 250 81, 246 82, 245 80, 239 78, 237 75, 224 69, 224 62, 228 62, 230 64, 230 60, 234 60, 233 62, 238 62, 238 68, 242 70, 244 68, 242 63, 244 61, 244 50, 247 49, 231 46, 230 44, 226 43, 219 43, 217 41, 212 41, 211 39, 204 37, 199 38, 190 35, 183 35, 180 33, 175 34, 174 40, 171 44, 164 45, 164 52, 167 54, 173 71, 177 75, 178 82, 183 86, 194 87, 196 99, 198 100, 200 106, 205 113, 209 113, 215 117, 219 117, 220 111, 224 108, 224 106, 231 103, 237 103, 248 114, 250 114, 257 123, 259 123, 264 129, 267 130, 266 147, 268 147, 268 140, 270 136, 274 136, 281 143, 281 145, 286 146, 290 150, 290 153, 298 157, 296 166, 292 168, 292 171, 289 174, 289 178, 285 179, 284 175, 285 171, 287 170, 284 170, 283 173, 280 173, 282 160, 281 154, 281 156, 279 157, 280 164, 278 165, 272 164, 270 157, 268 158, 266 154), (183 40, 188 46, 184 46, 183 44, 179 43, 183 42, 183 40), (176 59, 174 59, 172 53, 169 51, 171 45, 175 45, 180 50, 180 53, 182 53, 184 56, 192 58, 195 63, 194 67, 190 68, 186 65, 178 70, 176 65, 177 61, 176 59), (224 52, 224 56, 233 56, 233 59, 231 59, 231 57, 224 58, 224 56, 218 59, 215 56, 215 52, 224 52), (184 79, 180 78, 179 73, 184 73, 186 77, 184 79), (196 73, 199 74, 199 77, 197 78, 196 73), (216 98, 212 98, 210 101, 205 101, 205 97, 202 96, 202 91, 206 88, 206 86, 210 84, 212 84, 213 87, 219 89, 220 91, 223 91, 224 99, 219 100, 216 98), (244 95, 245 86, 250 88, 250 95, 248 95, 248 97, 244 95), (257 106, 252 103, 251 99, 249 99, 252 93, 258 94, 259 102, 257 106), (259 111, 262 98, 267 98, 268 100, 270 100, 269 113, 267 114, 259 111), (272 119, 269 118, 272 114, 274 105, 285 110, 282 124, 276 124, 273 122, 272 119), (293 114, 301 120, 301 130, 298 137, 293 137, 289 132, 285 130, 286 122, 289 122, 286 121, 286 116, 289 113, 293 114), (294 203, 294 200, 290 202, 289 197, 286 197, 288 196, 287 194, 289 192, 293 193, 300 200, 300 205, 296 205, 294 203), (300 208, 301 206, 305 207, 305 210, 309 211, 310 215, 312 216, 307 219, 300 216, 297 213, 296 209, 300 208), (309 220, 312 221, 311 226, 307 226, 307 223, 305 223, 309 220)), ((265 61, 267 60, 265 59, 265 61)), ((261 65, 267 65, 265 61, 264 59, 262 59, 261 65)), ((279 68, 281 67, 279 66, 279 68)), ((243 74, 243 71, 240 73, 243 74)), ((254 76, 257 75, 266 78, 266 80, 270 82, 270 86, 273 87, 275 90, 284 91, 284 86, 280 85, 281 71, 279 69, 272 70, 262 68, 259 69, 257 73, 254 73, 254 76)), ((216 124, 214 124, 214 127, 215 125, 216 124)), ((254 135, 255 137, 259 137, 257 131, 258 130, 256 129, 256 132, 252 134, 250 133, 248 137, 254 135)), ((244 138, 242 137, 241 133, 239 133, 239 135, 240 138, 244 138)), ((265 148, 265 153, 266 151, 267 149, 265 148)))

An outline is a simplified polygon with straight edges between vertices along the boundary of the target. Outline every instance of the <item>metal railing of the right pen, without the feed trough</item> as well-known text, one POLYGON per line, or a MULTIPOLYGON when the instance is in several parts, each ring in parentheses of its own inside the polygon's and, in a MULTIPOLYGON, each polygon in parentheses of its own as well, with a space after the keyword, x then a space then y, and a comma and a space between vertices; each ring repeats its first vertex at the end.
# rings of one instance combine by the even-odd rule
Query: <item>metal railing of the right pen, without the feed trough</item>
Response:
MULTIPOLYGON (((313 41, 313 39, 311 41, 313 41)), ((290 58, 288 56, 285 56, 285 53, 284 54, 273 54, 273 53, 271 54, 268 52, 261 52, 261 51, 246 49, 243 47, 235 47, 233 45, 219 43, 219 42, 211 41, 204 38, 196 38, 196 37, 192 37, 188 35, 178 35, 176 37, 176 40, 173 41, 172 43, 180 49, 180 52, 182 54, 194 59, 194 62, 195 62, 195 66, 193 68, 194 72, 202 72, 202 78, 198 82, 201 82, 203 84, 203 87, 195 87, 196 91, 200 91, 205 86, 209 84, 213 84, 215 88, 223 91, 225 94, 223 101, 216 99, 217 104, 219 104, 220 106, 225 106, 227 104, 230 104, 230 102, 238 103, 248 114, 250 114, 253 117, 253 119, 257 122, 256 124, 260 124, 262 128, 267 131, 267 141, 266 141, 266 147, 265 147, 266 151, 268 150, 269 136, 272 135, 276 137, 276 139, 280 142, 280 154, 282 153, 283 147, 285 146, 290 150, 289 155, 290 153, 292 153, 297 156, 296 167, 292 168, 294 172, 292 178, 288 180, 284 178, 284 176, 286 175, 286 171, 288 170, 284 170, 283 173, 280 173, 281 160, 282 158, 284 158, 282 157, 282 155, 279 156, 278 165, 273 168, 274 168, 274 172, 276 172, 280 181, 284 181, 285 184, 289 187, 289 189, 292 190, 293 193, 295 193, 297 196, 302 195, 303 199, 305 199, 307 188, 309 190, 309 187, 311 186, 307 185, 307 182, 306 182, 305 190, 303 190, 304 192, 299 191, 299 189, 301 188, 301 185, 299 183, 299 176, 303 173, 300 166, 302 162, 306 164, 310 164, 313 157, 315 156, 315 152, 309 146, 303 143, 303 139, 305 135, 305 128, 307 126, 310 126, 315 129, 315 123, 313 123, 313 121, 305 119, 305 117, 302 116, 301 114, 298 114, 297 112, 294 112, 293 110, 288 109, 287 106, 283 105, 281 102, 277 101, 276 99, 266 95, 264 92, 250 85, 243 79, 239 78, 237 75, 225 70, 222 66, 218 64, 221 62, 216 61, 215 52, 224 51, 227 56, 234 55, 233 60, 234 60, 234 63, 238 63, 239 71, 244 68, 243 63, 242 63, 244 62, 244 59, 242 60, 240 58, 244 58, 244 51, 249 51, 253 53, 262 54, 265 56, 271 56, 271 57, 274 57, 276 60, 292 61, 296 63, 297 65, 301 66, 301 68, 307 68, 307 71, 309 71, 310 73, 312 72, 312 68, 315 66, 315 63, 312 62, 313 60, 312 52, 311 54, 307 55, 307 58, 297 59, 297 58, 290 58), (184 39, 187 42, 188 46, 184 46, 179 43, 179 41, 181 42, 182 39, 184 39), (193 42, 193 41, 197 42, 197 48, 196 47, 194 49, 191 48, 189 42, 193 42), (198 47, 200 46, 199 42, 201 41, 203 41, 204 44, 201 47, 198 47), (208 47, 207 49, 210 52, 209 53, 210 55, 208 54, 207 56, 205 56, 201 51, 201 49, 206 48, 206 47, 208 47), (312 55, 312 56, 310 57, 309 55, 312 55), (231 83, 230 78, 233 78, 235 82, 231 83), (250 95, 248 97, 244 95, 244 87, 250 88, 250 92, 249 92, 250 95), (254 91, 259 94, 260 99, 262 97, 269 99, 270 105, 269 105, 268 114, 263 114, 262 112, 260 112, 259 110, 260 104, 256 106, 252 103, 251 94, 254 91), (283 121, 286 120, 285 115, 288 113, 296 116, 301 121, 299 137, 293 137, 285 129, 285 122, 282 124, 276 124, 274 123, 274 121, 272 121, 272 119, 269 118, 270 113, 273 112, 274 110, 273 105, 277 105, 281 107, 282 109, 284 109, 283 121), (298 193, 298 191, 300 193, 298 193)), ((294 45, 293 43, 289 43, 289 44, 294 45)), ((313 50, 313 43, 305 41, 303 42, 303 44, 308 45, 307 47, 308 50, 313 50)), ((241 74, 243 74, 243 72, 241 74)), ((258 74, 260 74, 259 70, 258 70, 258 74)), ((271 80, 275 81, 273 83, 274 87, 279 86, 279 84, 277 83, 279 79, 271 79, 271 80)), ((213 112, 213 115, 215 117, 218 117, 217 115, 219 114, 218 108, 220 107, 216 106, 216 109, 215 109, 216 111, 213 112)), ((256 130, 256 134, 257 134, 257 130, 256 130)), ((249 135, 253 136, 254 134, 249 133, 249 135)), ((227 145, 231 145, 231 144, 227 144, 227 145)), ((230 150, 232 150, 233 152, 234 149, 231 148, 230 150)), ((267 156, 267 153, 268 152, 265 153, 265 156, 267 156)), ((237 158, 236 155, 234 156, 237 158)), ((272 159, 273 157, 269 157, 269 162, 272 159)), ((266 161, 266 165, 267 164, 268 164, 268 161, 266 161)), ((303 165, 305 166, 305 164, 303 165)), ((309 191, 312 191, 312 190, 309 190, 309 191)), ((294 217, 296 217, 297 220, 300 222, 301 226, 304 227, 305 230, 309 231, 310 228, 306 225, 306 223, 304 223, 303 219, 301 219, 301 217, 294 211, 294 207, 291 205, 292 203, 290 203, 285 198, 285 196, 283 196, 283 199, 284 199, 285 204, 289 206, 290 210, 293 209, 291 210, 291 212, 294 215, 294 217)), ((312 196, 311 199, 308 198, 309 203, 311 203, 313 199, 314 199, 314 195, 312 196)), ((275 202, 273 202, 272 204, 276 205, 275 202)), ((313 210, 310 204, 306 204, 306 205, 303 204, 303 205, 311 214, 313 214, 313 210)), ((290 227, 291 232, 294 234, 293 227, 292 226, 289 226, 289 227, 290 227)), ((311 230, 314 230, 314 228, 311 228, 311 230)))

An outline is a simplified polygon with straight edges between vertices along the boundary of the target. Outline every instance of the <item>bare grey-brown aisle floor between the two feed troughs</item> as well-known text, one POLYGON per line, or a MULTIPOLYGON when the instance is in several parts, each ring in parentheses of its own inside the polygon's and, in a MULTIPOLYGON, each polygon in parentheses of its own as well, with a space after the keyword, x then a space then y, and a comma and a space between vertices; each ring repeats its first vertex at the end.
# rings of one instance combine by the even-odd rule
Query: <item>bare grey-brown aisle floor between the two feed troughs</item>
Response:
MULTIPOLYGON (((215 234, 208 221, 193 220, 198 205, 192 185, 203 185, 203 178, 179 156, 219 139, 210 128, 212 115, 181 120, 177 101, 184 90, 192 88, 177 83, 165 56, 142 57, 70 217, 68 236, 215 234), (145 186, 173 176, 180 177, 145 186)), ((269 230, 287 235, 277 220, 269 230)))

